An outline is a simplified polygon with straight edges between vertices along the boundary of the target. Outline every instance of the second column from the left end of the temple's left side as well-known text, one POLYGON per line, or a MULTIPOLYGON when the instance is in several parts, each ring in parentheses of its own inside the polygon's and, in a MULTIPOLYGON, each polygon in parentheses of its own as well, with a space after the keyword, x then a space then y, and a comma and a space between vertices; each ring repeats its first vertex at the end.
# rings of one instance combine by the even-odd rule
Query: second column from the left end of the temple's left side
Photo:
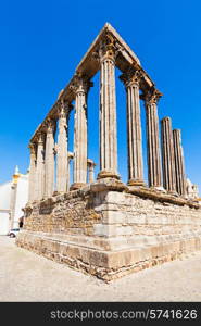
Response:
POLYGON ((45 135, 38 136, 35 199, 41 200, 45 191, 45 135))

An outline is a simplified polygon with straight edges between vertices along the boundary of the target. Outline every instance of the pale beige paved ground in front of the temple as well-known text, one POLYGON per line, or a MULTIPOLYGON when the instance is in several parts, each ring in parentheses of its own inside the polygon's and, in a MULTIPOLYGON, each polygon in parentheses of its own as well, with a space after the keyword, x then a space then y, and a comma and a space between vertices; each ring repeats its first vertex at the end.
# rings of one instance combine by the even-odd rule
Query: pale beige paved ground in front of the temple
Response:
POLYGON ((201 252, 104 284, 0 236, 0 301, 201 301, 201 252))

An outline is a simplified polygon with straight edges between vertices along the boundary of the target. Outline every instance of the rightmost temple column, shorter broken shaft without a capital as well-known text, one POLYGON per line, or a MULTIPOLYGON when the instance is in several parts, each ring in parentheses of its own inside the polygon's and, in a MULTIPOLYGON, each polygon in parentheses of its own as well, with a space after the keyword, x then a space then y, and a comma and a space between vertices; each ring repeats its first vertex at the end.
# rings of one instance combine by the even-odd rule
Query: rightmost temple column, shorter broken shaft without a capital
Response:
POLYGON ((181 133, 179 129, 173 130, 174 152, 175 152, 175 172, 176 172, 176 191, 186 195, 186 176, 184 151, 181 147, 181 133))

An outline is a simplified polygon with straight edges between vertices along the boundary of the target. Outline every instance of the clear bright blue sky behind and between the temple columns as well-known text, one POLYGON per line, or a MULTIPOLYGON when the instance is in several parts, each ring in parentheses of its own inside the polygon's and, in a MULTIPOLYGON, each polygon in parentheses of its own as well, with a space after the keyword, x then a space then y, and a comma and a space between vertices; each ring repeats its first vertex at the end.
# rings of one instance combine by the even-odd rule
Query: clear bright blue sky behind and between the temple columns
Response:
MULTIPOLYGON (((102 26, 127 41, 163 92, 160 120, 183 131, 186 173, 201 189, 201 1, 1 1, 0 183, 29 165, 28 140, 102 26)), ((120 72, 116 72, 120 75, 120 72)), ((98 75, 89 95, 89 156, 98 162, 98 75)), ((142 111, 143 159, 145 110, 142 111)), ((126 102, 117 80, 120 173, 126 179, 126 102)), ((71 116, 70 150, 73 143, 71 116)), ((145 163, 145 178, 147 178, 145 163)))

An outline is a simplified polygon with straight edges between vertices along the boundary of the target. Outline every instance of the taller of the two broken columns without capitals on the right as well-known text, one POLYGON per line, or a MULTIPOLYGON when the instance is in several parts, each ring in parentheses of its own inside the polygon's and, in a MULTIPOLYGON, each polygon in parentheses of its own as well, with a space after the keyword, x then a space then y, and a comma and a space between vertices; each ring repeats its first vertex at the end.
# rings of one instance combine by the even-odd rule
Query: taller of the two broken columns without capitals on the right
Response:
POLYGON ((169 192, 176 192, 175 155, 171 117, 161 121, 163 187, 169 192))

